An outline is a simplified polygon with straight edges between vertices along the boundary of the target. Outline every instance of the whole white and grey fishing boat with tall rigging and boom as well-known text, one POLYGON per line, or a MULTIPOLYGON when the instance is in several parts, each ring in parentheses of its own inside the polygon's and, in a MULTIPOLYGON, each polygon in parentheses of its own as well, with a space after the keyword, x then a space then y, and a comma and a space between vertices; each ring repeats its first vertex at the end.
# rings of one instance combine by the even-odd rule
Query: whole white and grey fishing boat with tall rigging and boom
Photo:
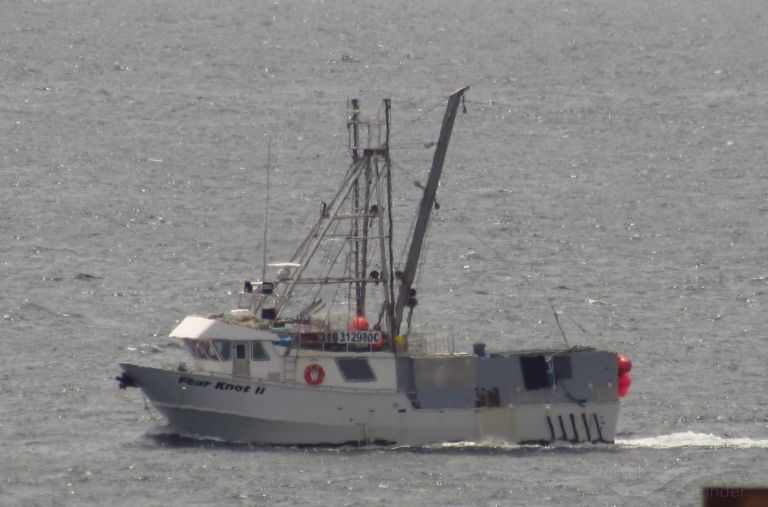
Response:
POLYGON ((615 352, 412 343, 419 261, 467 89, 448 98, 404 259, 393 247, 391 103, 366 119, 352 100, 352 162, 293 255, 244 282, 237 308, 180 322, 170 336, 189 364, 122 363, 120 387, 141 389, 173 431, 231 442, 613 442, 631 368, 615 352))

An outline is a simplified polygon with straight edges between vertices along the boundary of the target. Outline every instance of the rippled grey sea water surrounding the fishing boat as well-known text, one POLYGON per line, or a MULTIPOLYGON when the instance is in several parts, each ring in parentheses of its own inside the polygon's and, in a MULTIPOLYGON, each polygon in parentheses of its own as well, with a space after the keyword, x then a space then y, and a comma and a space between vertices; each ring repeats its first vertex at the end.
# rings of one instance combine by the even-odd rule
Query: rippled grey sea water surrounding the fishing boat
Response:
POLYGON ((766 15, 4 2, 0 504, 696 505, 764 486, 766 15), (414 340, 628 356, 615 445, 231 445, 118 391, 119 362, 184 360, 174 325, 260 276, 268 146, 279 262, 348 167, 347 100, 375 116, 391 98, 401 240, 464 85, 414 340))

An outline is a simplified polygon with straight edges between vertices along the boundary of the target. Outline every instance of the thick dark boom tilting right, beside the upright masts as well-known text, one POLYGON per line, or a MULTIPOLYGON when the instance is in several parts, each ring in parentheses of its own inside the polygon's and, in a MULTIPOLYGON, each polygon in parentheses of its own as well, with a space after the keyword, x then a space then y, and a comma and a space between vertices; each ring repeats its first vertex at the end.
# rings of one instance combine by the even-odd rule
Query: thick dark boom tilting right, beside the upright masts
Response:
POLYGON ((419 257, 421 257, 421 248, 424 244, 424 236, 427 232, 429 217, 432 213, 432 208, 435 205, 437 185, 440 182, 440 175, 443 172, 443 162, 445 161, 448 142, 451 140, 451 132, 453 131, 453 122, 456 119, 456 111, 459 107, 461 97, 468 89, 469 86, 465 86, 454 92, 453 95, 448 98, 448 105, 445 108, 443 126, 440 129, 437 148, 435 149, 435 155, 432 158, 432 168, 429 170, 427 185, 424 188, 424 194, 421 197, 419 214, 416 218, 416 225, 413 229, 413 237, 411 238, 411 246, 408 250, 408 258, 405 263, 405 271, 400 280, 400 292, 398 293, 397 302, 395 304, 394 329, 392 330, 395 335, 400 333, 400 324, 403 320, 403 307, 410 299, 411 288, 413 286, 413 281, 416 278, 416 268, 419 263, 419 257))

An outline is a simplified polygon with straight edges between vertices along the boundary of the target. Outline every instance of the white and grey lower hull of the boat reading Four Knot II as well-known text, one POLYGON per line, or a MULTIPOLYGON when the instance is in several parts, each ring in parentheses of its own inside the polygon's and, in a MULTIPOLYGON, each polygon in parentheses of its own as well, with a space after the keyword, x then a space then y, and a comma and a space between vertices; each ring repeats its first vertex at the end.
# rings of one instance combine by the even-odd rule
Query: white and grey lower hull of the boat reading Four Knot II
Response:
POLYGON ((413 408, 398 391, 305 386, 121 365, 180 433, 230 442, 322 445, 503 440, 613 442, 618 400, 413 408))

